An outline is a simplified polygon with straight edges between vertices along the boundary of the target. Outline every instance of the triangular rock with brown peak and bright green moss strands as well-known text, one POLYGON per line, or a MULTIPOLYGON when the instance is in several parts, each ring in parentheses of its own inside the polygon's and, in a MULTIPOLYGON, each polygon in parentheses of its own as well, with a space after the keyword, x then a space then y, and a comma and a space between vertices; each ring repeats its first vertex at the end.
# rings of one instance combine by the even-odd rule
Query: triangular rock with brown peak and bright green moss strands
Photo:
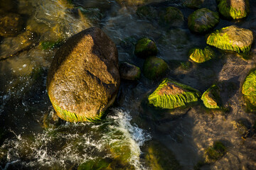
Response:
POLYGON ((148 100, 155 107, 173 109, 194 103, 200 97, 201 93, 198 90, 170 79, 164 79, 148 100))

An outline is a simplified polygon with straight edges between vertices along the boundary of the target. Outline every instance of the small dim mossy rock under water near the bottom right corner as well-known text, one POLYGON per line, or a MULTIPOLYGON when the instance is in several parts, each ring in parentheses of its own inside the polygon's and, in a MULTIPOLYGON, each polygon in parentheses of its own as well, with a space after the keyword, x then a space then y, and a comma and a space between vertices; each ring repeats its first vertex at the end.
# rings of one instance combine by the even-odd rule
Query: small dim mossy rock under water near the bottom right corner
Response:
POLYGON ((213 146, 210 146, 206 149, 206 152, 205 152, 206 163, 210 164, 210 163, 216 162, 218 159, 222 158, 226 152, 227 152, 227 149, 222 142, 220 141, 214 142, 213 146))

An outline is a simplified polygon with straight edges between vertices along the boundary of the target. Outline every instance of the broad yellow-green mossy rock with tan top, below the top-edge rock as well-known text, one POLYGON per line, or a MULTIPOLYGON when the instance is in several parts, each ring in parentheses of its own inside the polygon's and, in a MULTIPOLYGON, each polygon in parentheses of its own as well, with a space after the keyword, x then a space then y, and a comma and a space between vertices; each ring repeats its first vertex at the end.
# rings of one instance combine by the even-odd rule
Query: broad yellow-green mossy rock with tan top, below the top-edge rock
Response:
POLYGON ((228 26, 210 33, 206 42, 222 50, 248 52, 253 42, 253 33, 238 26, 228 26))

